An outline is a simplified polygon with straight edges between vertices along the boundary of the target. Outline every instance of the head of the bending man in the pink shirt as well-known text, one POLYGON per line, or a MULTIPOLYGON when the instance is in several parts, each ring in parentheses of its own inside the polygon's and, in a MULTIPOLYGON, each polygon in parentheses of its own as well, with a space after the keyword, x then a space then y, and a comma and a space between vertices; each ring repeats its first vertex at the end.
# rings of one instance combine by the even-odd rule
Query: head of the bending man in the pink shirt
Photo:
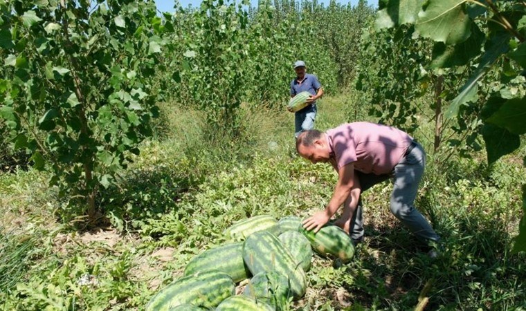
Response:
POLYGON ((296 151, 313 164, 327 162, 330 159, 330 148, 325 133, 318 130, 302 132, 296 140, 296 151))

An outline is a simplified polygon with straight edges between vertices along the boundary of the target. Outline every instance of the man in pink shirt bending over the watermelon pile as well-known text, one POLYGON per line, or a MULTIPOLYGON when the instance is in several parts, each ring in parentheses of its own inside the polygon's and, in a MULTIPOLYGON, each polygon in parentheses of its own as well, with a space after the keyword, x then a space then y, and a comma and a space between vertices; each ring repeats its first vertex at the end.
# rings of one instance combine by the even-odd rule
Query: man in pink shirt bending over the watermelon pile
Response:
POLYGON ((353 241, 361 241, 361 192, 393 178, 392 214, 420 241, 439 241, 426 218, 413 206, 426 166, 426 153, 407 133, 381 124, 354 122, 326 133, 305 131, 298 136, 296 149, 302 158, 313 164, 330 162, 338 171, 338 182, 329 205, 303 222, 306 229, 318 232, 343 205, 336 225, 348 232, 353 241))

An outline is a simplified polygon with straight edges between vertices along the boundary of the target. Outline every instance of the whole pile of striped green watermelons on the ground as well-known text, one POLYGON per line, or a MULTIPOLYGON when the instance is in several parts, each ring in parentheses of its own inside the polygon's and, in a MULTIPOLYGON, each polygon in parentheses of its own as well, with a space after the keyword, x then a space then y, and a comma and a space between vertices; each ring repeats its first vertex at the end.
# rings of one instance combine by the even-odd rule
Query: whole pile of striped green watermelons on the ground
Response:
POLYGON ((307 232, 301 219, 255 216, 235 223, 225 232, 231 242, 192 258, 185 276, 160 290, 147 311, 175 310, 289 310, 307 290, 307 272, 314 249, 343 263, 354 256, 351 238, 326 225, 307 232), (235 295, 235 283, 251 278, 235 295))

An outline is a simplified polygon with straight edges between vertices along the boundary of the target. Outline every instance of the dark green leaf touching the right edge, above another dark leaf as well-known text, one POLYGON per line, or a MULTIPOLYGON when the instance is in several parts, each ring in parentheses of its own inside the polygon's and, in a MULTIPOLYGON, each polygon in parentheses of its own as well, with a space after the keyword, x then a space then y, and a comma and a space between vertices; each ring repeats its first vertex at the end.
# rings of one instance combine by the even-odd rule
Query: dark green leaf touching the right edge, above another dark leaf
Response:
POLYGON ((508 100, 486 122, 495 124, 511 133, 526 133, 526 97, 508 100))

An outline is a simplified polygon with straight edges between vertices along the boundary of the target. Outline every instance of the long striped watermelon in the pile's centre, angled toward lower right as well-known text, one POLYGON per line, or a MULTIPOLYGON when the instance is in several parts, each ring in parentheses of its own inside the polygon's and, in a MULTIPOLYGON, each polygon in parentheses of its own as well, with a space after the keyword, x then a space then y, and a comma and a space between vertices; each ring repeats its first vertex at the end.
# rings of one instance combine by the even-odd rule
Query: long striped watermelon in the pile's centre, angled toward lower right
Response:
POLYGON ((275 270, 279 274, 289 276, 294 299, 300 299, 305 295, 307 287, 305 272, 273 234, 262 231, 248 236, 243 245, 243 259, 253 275, 275 270))

